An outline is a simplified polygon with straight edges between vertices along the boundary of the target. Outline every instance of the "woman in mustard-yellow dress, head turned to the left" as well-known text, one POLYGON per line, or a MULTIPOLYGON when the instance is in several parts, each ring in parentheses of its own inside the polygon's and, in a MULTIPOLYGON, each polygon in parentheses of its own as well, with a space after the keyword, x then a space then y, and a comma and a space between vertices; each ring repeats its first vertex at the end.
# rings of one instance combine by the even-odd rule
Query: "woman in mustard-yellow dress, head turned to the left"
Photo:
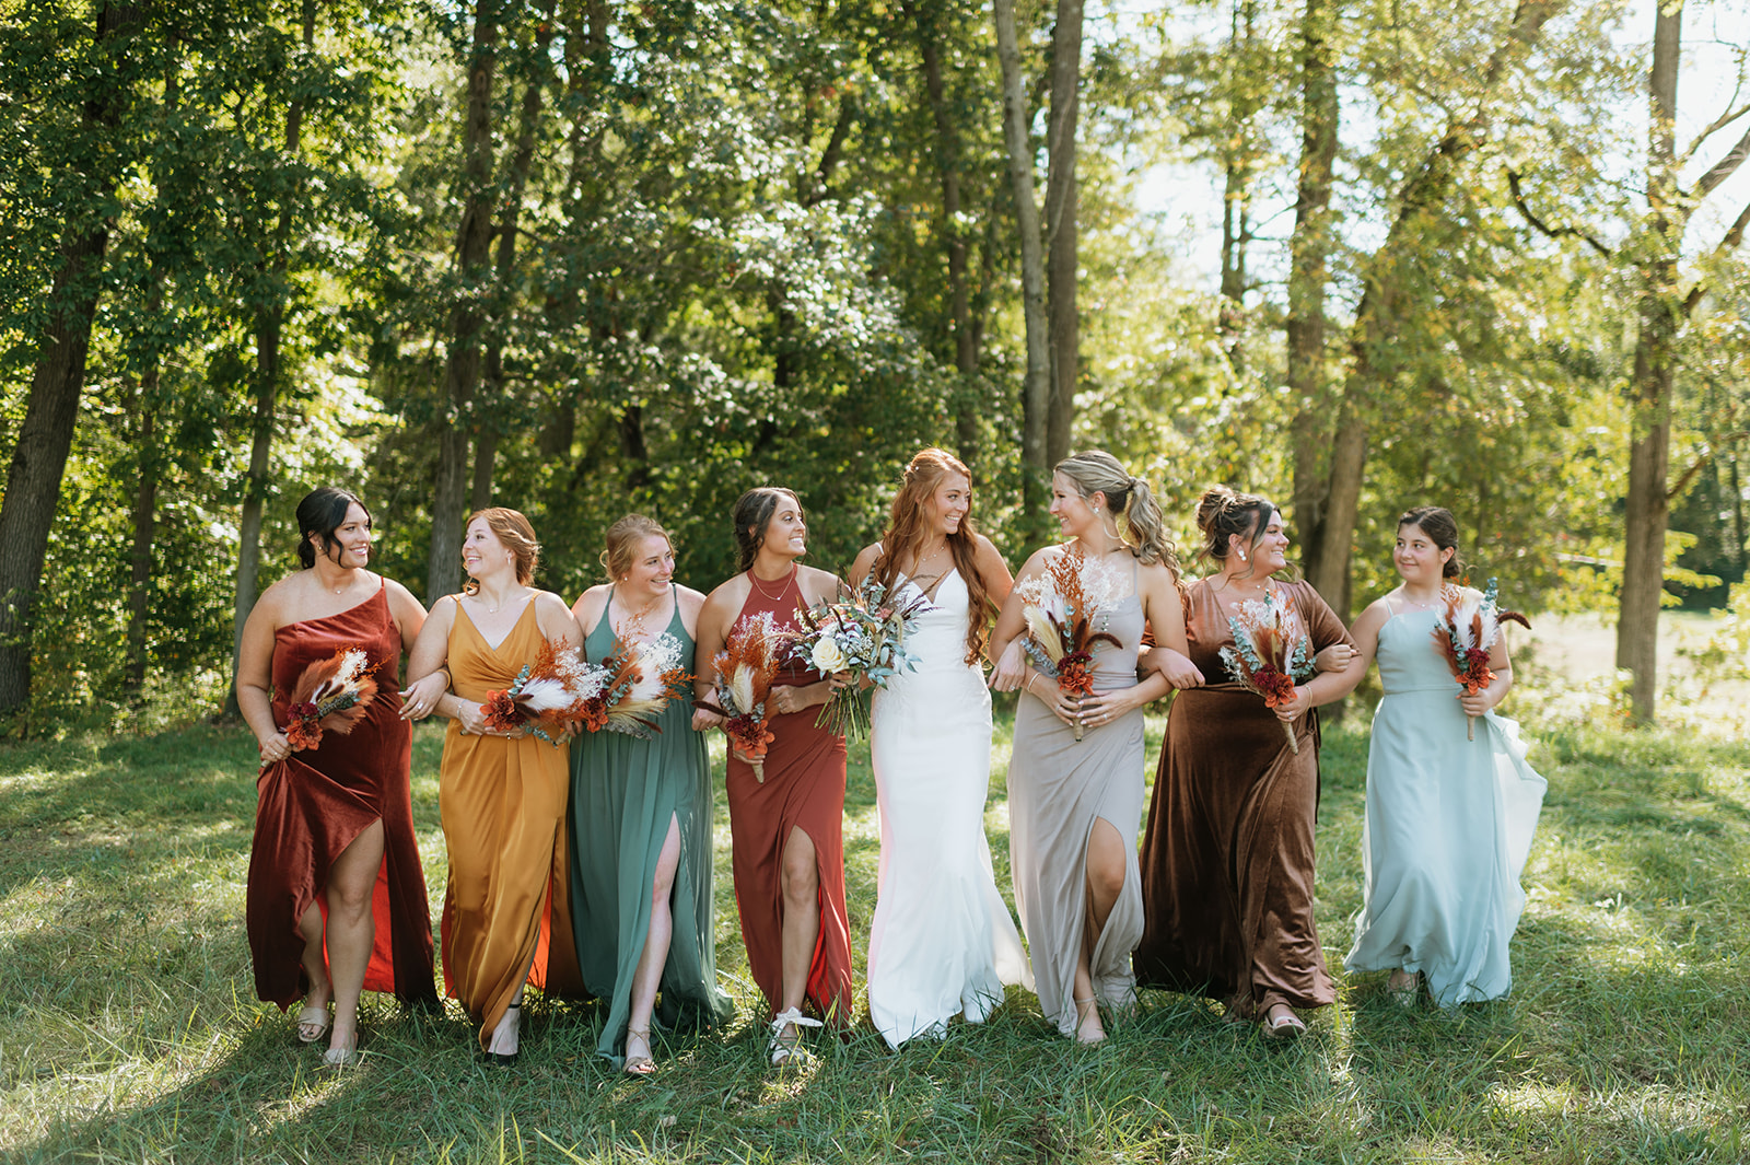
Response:
POLYGON ((450 850, 443 974, 499 1067, 516 1062, 523 985, 578 987, 565 904, 567 747, 492 728, 483 707, 536 661, 542 640, 576 649, 581 638, 565 600, 534 588, 539 556, 520 513, 476 511, 462 539, 469 581, 432 603, 408 665, 411 675, 448 673, 450 691, 434 708, 450 717, 438 773, 450 850))

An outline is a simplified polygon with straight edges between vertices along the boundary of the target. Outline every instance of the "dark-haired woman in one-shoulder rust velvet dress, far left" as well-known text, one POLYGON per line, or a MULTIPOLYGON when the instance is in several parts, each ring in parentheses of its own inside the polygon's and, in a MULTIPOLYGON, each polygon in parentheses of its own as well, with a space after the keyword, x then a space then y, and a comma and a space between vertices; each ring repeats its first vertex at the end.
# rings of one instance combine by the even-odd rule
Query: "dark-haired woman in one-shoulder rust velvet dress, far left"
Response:
POLYGON ((413 647, 425 607, 366 569, 364 504, 324 486, 298 504, 298 530, 303 570, 256 602, 238 651, 236 701, 262 764, 245 911, 257 995, 280 1009, 303 997, 298 1039, 306 1044, 329 1030, 332 1001, 322 1062, 341 1067, 357 1058, 360 990, 439 1006, 404 717, 429 710, 443 680, 396 691, 401 652, 413 647), (364 717, 294 754, 285 728, 298 680, 354 649, 376 682, 364 717))

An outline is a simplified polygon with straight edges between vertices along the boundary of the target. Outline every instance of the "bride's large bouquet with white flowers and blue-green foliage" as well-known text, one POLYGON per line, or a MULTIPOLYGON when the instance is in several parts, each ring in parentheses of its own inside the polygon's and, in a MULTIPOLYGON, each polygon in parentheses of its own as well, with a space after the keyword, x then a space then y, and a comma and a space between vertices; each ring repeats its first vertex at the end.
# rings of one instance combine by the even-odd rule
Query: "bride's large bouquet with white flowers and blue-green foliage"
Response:
POLYGON ((894 675, 917 666, 917 656, 905 640, 917 630, 917 616, 924 610, 929 610, 929 600, 922 593, 901 598, 896 589, 889 595, 875 576, 868 576, 859 588, 840 582, 836 600, 802 612, 803 630, 791 638, 791 658, 821 675, 850 673, 850 682, 821 707, 816 728, 852 740, 868 736, 863 680, 886 687, 894 675))

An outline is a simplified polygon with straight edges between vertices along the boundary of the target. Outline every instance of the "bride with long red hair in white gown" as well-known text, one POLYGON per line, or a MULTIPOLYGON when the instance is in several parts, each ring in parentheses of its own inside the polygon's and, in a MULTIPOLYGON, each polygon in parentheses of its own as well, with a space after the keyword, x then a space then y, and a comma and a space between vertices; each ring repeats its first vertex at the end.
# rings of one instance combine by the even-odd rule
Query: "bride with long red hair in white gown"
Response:
POLYGON ((875 693, 870 750, 880 808, 880 873, 870 924, 870 1018, 898 1048, 940 1037, 952 1016, 982 1022, 1003 987, 1032 988, 1015 920, 990 873, 990 694, 980 656, 1013 577, 968 520, 971 478, 943 450, 905 469, 892 521, 858 555, 908 598, 922 595, 908 645, 919 663, 875 693))

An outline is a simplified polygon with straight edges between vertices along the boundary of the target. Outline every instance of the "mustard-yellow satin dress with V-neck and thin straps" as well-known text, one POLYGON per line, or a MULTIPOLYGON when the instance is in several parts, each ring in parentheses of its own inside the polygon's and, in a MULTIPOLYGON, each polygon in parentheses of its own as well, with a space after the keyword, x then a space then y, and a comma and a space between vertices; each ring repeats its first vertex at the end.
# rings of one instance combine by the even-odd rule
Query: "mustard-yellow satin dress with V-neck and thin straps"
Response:
MULTIPOLYGON (((457 603, 450 626, 450 689, 485 703, 509 687, 541 649, 536 600, 492 647, 457 603)), ((579 994, 565 903, 567 745, 539 736, 474 736, 450 721, 438 808, 450 847, 443 903, 444 988, 480 1020, 480 1046, 527 981, 579 994), (530 959, 534 962, 530 964, 530 959)))

